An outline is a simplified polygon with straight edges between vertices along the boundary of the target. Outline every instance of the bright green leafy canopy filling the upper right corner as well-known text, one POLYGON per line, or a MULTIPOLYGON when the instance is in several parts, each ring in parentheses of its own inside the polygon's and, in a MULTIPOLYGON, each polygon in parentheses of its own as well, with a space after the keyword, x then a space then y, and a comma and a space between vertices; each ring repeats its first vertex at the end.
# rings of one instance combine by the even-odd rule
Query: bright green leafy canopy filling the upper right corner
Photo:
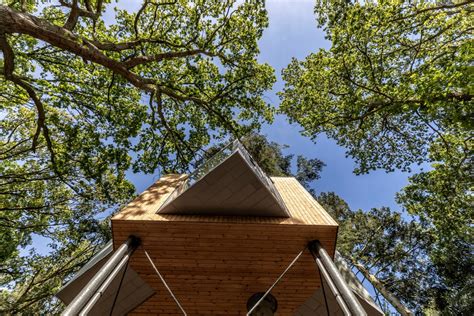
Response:
POLYGON ((330 50, 283 71, 281 111, 348 149, 356 172, 408 170, 472 128, 470 1, 317 1, 330 50))

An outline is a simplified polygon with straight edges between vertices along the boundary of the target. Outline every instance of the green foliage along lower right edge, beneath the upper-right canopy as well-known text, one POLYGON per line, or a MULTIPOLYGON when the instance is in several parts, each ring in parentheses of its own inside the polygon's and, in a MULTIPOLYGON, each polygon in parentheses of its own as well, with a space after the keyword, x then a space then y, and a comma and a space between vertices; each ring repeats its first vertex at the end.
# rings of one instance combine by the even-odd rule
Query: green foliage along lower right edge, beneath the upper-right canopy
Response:
POLYGON ((435 141, 432 170, 413 175, 397 195, 409 213, 433 227, 430 256, 443 279, 436 306, 450 315, 470 315, 474 310, 474 173, 472 144, 462 136, 445 134, 435 141))

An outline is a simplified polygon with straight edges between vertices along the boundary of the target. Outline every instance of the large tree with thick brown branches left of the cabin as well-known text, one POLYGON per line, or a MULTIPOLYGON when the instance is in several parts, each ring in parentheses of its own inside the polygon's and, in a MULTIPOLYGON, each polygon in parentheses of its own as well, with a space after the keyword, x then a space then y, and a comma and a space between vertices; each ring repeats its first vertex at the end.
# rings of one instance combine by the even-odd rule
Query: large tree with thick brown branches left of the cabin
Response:
POLYGON ((133 195, 127 170, 186 169, 271 119, 261 1, 110 2, 0 4, 0 313, 47 307, 133 195), (49 248, 26 255, 32 236, 49 248))

